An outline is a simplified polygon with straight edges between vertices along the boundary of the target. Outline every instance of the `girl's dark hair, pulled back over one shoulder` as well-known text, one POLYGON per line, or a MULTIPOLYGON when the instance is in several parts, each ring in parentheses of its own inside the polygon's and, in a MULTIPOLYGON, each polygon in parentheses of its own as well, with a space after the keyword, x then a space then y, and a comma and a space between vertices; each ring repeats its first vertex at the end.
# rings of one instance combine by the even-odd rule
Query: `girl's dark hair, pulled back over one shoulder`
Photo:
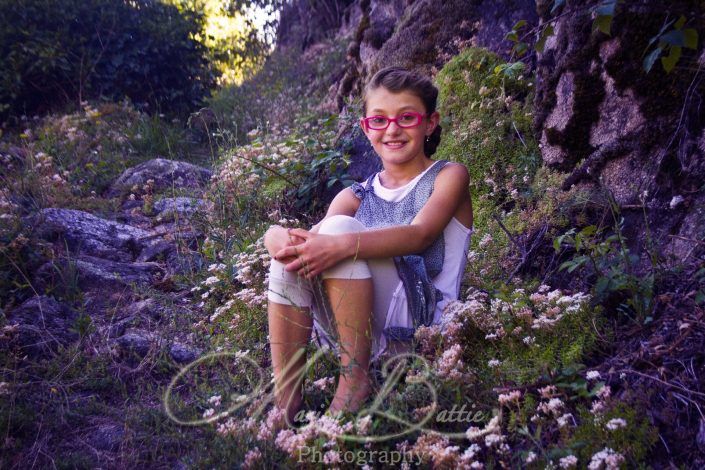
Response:
MULTIPOLYGON (((402 67, 386 67, 374 74, 365 86, 362 95, 363 115, 367 115, 367 94, 380 87, 384 87, 392 93, 403 91, 413 93, 421 99, 428 114, 436 111, 438 88, 429 78, 402 67)), ((424 141, 423 151, 427 157, 436 153, 436 148, 441 142, 441 132, 441 126, 437 125, 433 133, 424 141)))

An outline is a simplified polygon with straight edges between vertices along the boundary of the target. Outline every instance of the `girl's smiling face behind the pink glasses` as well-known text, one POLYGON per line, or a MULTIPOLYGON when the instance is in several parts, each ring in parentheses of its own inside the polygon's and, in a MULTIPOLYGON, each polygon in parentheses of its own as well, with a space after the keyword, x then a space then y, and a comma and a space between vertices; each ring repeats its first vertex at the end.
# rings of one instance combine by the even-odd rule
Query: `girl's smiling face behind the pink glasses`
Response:
POLYGON ((412 128, 401 128, 396 122, 390 122, 384 130, 368 129, 363 120, 360 125, 370 140, 372 147, 382 159, 382 163, 403 164, 414 159, 425 159, 424 140, 431 135, 438 124, 438 113, 426 116, 426 108, 418 96, 402 91, 392 93, 379 87, 367 94, 367 115, 395 118, 404 112, 416 112, 424 116, 421 124, 412 128))

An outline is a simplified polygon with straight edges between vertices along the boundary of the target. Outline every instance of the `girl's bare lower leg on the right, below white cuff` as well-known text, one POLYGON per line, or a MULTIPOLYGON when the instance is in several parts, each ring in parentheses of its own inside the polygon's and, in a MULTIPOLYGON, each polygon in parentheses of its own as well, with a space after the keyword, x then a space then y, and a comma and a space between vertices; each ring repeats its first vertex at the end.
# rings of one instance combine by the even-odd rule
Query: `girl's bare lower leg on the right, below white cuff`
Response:
POLYGON ((340 346, 338 389, 329 411, 356 411, 370 393, 372 279, 326 279, 340 346))

